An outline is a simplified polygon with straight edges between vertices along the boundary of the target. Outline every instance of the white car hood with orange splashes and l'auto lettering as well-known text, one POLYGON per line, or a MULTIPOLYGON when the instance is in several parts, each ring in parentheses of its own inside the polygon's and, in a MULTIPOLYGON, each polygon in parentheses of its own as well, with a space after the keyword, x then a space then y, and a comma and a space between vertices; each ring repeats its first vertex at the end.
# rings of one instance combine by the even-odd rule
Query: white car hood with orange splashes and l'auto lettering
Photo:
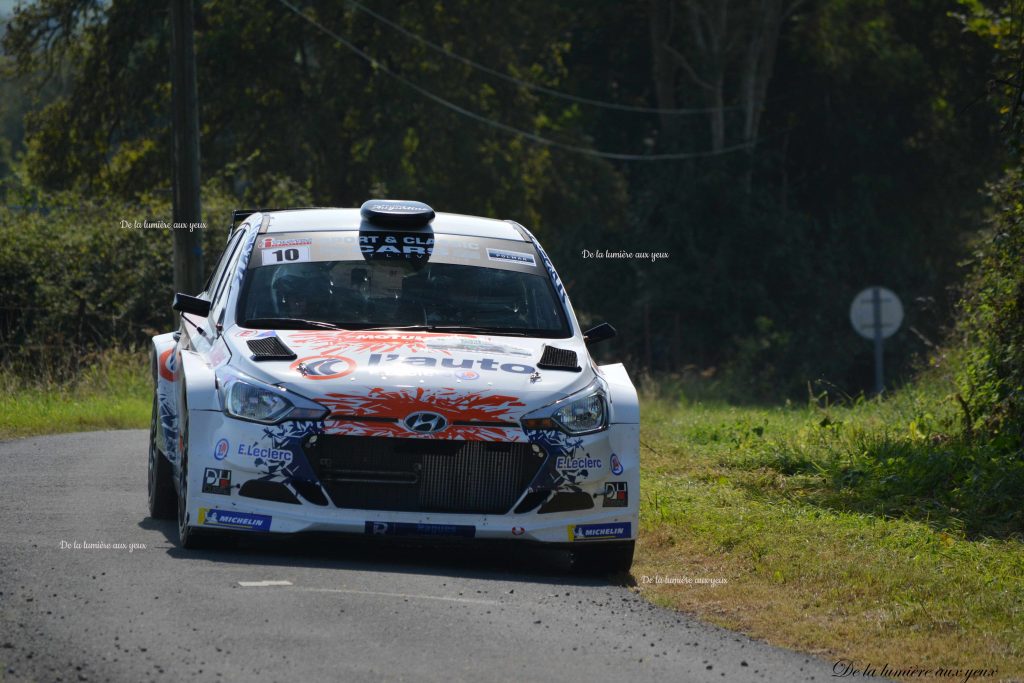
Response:
POLYGON ((402 419, 433 410, 518 420, 594 379, 587 348, 574 338, 236 327, 223 339, 232 369, 327 404, 332 414, 402 419), (274 339, 296 357, 254 359, 252 346, 271 348, 274 339), (540 368, 545 346, 574 353, 579 370, 540 368))

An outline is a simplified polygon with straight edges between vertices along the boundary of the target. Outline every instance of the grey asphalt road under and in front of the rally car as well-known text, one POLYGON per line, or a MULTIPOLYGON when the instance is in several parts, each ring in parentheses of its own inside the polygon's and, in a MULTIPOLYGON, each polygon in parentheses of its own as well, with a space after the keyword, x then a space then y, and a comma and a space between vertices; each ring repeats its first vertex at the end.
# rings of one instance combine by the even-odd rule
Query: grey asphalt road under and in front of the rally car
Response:
POLYGON ((173 522, 146 516, 146 441, 0 443, 0 681, 830 678, 830 663, 514 548, 247 540, 183 552, 173 522))

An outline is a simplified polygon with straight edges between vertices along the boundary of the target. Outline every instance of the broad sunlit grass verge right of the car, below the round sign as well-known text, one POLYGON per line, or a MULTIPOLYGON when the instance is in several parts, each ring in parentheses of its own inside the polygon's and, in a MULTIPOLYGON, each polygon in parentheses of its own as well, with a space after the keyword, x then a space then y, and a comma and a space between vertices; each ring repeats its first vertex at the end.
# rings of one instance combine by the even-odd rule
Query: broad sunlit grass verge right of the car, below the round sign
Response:
POLYGON ((949 394, 934 375, 845 407, 648 392, 638 590, 828 658, 1021 676, 1019 470, 955 435, 949 394))

